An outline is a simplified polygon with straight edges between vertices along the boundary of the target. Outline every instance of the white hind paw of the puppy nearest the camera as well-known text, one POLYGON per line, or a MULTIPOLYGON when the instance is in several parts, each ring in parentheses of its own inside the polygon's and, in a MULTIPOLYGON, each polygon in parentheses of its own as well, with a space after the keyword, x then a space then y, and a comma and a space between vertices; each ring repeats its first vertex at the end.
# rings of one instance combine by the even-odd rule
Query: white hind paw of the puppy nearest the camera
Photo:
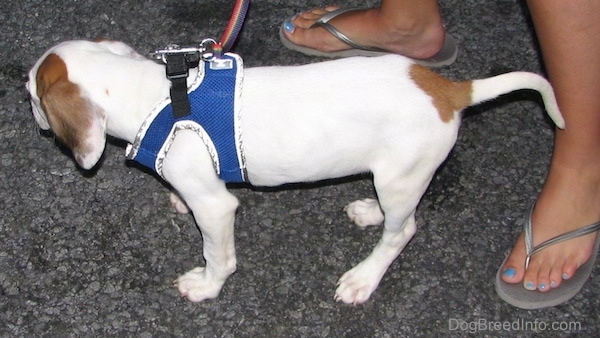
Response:
POLYGON ((360 263, 340 278, 334 299, 354 306, 363 304, 377 289, 380 280, 379 273, 360 263))

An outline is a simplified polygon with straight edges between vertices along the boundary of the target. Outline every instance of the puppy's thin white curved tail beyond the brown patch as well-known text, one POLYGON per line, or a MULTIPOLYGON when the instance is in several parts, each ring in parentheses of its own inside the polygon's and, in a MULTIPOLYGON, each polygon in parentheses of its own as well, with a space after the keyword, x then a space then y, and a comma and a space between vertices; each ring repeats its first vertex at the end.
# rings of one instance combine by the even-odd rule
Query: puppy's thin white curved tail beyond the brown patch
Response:
POLYGON ((487 79, 473 80, 471 102, 481 103, 519 89, 532 89, 540 93, 548 116, 557 127, 564 129, 565 120, 558 109, 552 86, 544 77, 528 72, 506 73, 487 79))

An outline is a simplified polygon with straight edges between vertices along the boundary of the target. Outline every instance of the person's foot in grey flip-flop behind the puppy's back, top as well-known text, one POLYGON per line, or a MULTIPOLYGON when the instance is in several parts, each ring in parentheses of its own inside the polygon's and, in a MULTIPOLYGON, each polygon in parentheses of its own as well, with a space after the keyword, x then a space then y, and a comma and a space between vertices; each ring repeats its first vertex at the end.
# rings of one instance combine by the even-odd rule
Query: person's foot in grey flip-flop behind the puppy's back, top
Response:
POLYGON ((367 49, 375 51, 374 55, 385 51, 416 60, 433 57, 436 62, 443 62, 438 66, 455 60, 456 42, 446 36, 439 15, 422 19, 400 16, 379 8, 339 10, 332 6, 290 18, 282 25, 280 34, 286 47, 309 55, 344 57, 351 55, 344 55, 345 51, 367 49), (323 24, 328 16, 333 17, 323 24), (320 24, 316 24, 319 20, 320 24), (328 30, 324 25, 331 28, 328 30), (336 37, 332 30, 342 37, 336 37))

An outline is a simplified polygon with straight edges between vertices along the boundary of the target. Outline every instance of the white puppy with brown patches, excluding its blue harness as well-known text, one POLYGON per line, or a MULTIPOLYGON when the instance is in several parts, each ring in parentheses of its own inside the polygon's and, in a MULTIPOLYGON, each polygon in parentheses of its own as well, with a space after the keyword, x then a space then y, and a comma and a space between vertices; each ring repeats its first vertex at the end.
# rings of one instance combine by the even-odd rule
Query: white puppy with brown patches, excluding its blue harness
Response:
MULTIPOLYGON (((189 81, 200 71, 193 69, 189 81)), ((40 58, 27 88, 39 126, 52 129, 90 169, 106 134, 136 141, 170 85, 164 65, 123 43, 70 41, 40 58)), ((247 69, 239 107, 247 180, 276 186, 373 173, 379 201, 356 201, 346 212, 359 226, 383 222, 383 235, 335 293, 337 301, 363 303, 415 234, 415 209, 454 146, 461 110, 517 89, 539 91, 564 128, 552 88, 532 73, 452 82, 397 55, 247 69)), ((176 133, 162 176, 185 201, 172 195, 174 206, 191 209, 204 239, 206 266, 179 277, 177 287, 194 302, 217 297, 236 269, 238 201, 191 130, 176 133)))

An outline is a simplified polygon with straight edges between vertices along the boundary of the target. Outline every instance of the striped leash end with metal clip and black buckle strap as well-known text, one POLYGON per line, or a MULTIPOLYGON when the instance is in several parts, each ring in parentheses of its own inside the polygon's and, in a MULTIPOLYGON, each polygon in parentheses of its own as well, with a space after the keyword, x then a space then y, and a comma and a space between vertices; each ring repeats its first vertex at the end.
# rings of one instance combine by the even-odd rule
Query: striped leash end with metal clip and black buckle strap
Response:
POLYGON ((187 77, 191 68, 198 67, 200 61, 215 61, 228 52, 244 25, 244 19, 250 6, 250 0, 236 0, 229 23, 221 40, 208 38, 198 46, 179 46, 170 44, 163 49, 150 53, 150 57, 166 65, 166 75, 171 80, 171 101, 176 118, 190 114, 190 102, 187 95, 187 77))

